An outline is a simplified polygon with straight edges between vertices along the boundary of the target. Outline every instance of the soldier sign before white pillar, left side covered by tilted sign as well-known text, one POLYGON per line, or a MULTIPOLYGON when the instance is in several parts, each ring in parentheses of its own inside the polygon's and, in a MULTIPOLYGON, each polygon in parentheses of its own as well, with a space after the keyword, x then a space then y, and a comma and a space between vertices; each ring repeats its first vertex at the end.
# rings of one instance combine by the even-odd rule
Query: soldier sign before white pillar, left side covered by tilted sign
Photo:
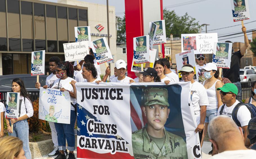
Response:
MULTIPOLYGON (((154 45, 166 43, 165 20, 155 21, 153 23, 157 25, 154 45)), ((149 22, 149 26, 150 24, 151 22, 149 22)))

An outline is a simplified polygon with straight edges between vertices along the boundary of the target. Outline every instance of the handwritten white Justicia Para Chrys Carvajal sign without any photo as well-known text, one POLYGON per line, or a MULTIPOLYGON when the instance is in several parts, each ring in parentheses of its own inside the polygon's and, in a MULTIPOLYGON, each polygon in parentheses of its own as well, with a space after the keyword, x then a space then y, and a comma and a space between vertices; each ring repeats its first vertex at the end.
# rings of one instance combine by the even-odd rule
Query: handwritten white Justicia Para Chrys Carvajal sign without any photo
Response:
POLYGON ((89 44, 87 41, 65 43, 63 44, 65 61, 84 60, 84 57, 89 54, 89 44))

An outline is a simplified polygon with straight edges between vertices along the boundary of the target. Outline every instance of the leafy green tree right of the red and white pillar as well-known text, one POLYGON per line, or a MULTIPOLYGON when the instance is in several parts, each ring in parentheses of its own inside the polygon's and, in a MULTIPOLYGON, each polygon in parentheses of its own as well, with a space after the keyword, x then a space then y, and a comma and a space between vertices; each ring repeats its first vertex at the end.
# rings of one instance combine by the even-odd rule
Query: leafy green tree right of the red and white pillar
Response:
POLYGON ((163 18, 165 19, 166 36, 170 37, 172 34, 174 37, 180 37, 181 34, 193 34, 199 33, 201 25, 196 22, 195 18, 192 18, 185 13, 185 15, 179 17, 174 10, 163 10, 163 18))

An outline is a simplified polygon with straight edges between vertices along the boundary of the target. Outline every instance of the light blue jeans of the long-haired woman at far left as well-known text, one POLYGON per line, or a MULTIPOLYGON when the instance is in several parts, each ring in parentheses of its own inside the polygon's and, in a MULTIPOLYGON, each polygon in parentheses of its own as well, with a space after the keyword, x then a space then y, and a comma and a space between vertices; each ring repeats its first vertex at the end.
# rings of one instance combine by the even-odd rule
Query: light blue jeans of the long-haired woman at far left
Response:
MULTIPOLYGON (((11 120, 9 120, 11 125, 11 120)), ((27 159, 31 159, 31 151, 29 149, 29 140, 28 140, 28 121, 21 120, 13 124, 13 133, 9 133, 9 136, 18 137, 23 141, 23 150, 25 151, 25 156, 27 159)))

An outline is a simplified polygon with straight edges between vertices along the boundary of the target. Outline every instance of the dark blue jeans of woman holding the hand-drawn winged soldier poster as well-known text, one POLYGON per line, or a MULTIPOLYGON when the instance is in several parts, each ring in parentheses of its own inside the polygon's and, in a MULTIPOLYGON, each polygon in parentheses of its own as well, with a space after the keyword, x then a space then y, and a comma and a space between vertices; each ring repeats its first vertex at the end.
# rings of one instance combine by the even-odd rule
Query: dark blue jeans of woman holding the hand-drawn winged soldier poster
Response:
POLYGON ((59 150, 64 150, 64 151, 66 150, 66 139, 68 142, 68 150, 69 151, 75 150, 74 126, 75 126, 76 117, 77 117, 76 112, 74 110, 71 110, 70 124, 54 123, 57 131, 59 150))

